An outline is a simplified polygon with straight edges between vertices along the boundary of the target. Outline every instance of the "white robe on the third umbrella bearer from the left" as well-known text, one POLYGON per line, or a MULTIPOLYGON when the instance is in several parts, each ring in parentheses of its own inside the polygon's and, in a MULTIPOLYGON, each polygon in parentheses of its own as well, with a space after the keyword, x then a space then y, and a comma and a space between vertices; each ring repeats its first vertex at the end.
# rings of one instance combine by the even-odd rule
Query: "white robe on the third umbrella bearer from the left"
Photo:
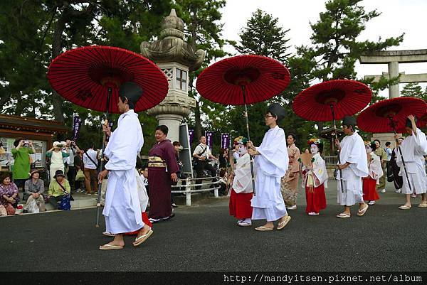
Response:
POLYGON ((342 170, 342 184, 344 185, 344 192, 341 188, 341 178, 337 175, 337 202, 339 205, 352 206, 356 203, 363 203, 363 183, 362 177, 369 175, 367 151, 361 136, 354 132, 351 136, 345 136, 342 139, 341 151, 339 158, 341 164, 349 162, 350 165, 342 170))

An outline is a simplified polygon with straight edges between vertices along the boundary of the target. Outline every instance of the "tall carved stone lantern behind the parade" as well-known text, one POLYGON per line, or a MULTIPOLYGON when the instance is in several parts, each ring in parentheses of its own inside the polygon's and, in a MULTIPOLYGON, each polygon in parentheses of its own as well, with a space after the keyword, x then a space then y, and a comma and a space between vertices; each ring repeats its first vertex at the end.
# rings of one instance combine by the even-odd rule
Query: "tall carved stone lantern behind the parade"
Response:
POLYGON ((159 125, 169 128, 168 139, 179 141, 182 119, 196 107, 196 100, 188 96, 189 72, 200 68, 205 58, 204 50, 194 49, 184 41, 184 21, 172 9, 162 21, 159 40, 141 43, 141 54, 161 68, 169 82, 169 92, 162 103, 149 109, 159 125))

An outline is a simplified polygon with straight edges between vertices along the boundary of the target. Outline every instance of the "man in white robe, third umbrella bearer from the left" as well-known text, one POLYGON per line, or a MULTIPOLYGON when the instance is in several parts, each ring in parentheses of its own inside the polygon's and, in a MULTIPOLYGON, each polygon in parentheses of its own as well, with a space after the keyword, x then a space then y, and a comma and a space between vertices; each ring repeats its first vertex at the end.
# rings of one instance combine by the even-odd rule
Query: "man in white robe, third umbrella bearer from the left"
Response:
POLYGON ((342 130, 347 136, 342 139, 341 143, 336 141, 339 149, 339 158, 341 164, 338 168, 340 171, 337 175, 338 184, 338 203, 344 206, 344 212, 337 217, 350 217, 350 207, 359 203, 359 211, 357 215, 362 216, 368 210, 368 205, 363 199, 363 182, 362 178, 369 175, 367 153, 364 146, 364 141, 355 131, 356 118, 346 116, 342 121, 342 130), (344 187, 342 190, 341 181, 344 187))

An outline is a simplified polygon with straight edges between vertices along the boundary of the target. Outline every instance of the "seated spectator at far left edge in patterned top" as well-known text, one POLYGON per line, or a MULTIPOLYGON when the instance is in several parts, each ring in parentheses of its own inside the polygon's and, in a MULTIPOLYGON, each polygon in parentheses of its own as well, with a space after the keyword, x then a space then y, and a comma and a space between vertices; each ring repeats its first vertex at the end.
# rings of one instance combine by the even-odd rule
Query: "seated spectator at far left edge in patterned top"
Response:
MULTIPOLYGON (((18 186, 11 181, 11 174, 2 171, 0 174, 0 204, 7 211, 7 215, 15 215, 15 208, 18 207, 19 195, 18 186)), ((4 210, 2 208, 2 213, 4 210)))

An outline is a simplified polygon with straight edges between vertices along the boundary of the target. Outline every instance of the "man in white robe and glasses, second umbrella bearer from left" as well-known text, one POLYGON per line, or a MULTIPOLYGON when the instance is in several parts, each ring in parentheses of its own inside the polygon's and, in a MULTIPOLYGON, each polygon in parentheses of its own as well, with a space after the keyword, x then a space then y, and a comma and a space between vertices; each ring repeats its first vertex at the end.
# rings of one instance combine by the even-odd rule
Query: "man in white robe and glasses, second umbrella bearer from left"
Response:
POLYGON ((260 146, 253 146, 248 141, 248 153, 255 156, 255 195, 251 200, 252 220, 267 220, 258 231, 273 230, 273 221, 279 220, 278 230, 282 230, 290 221, 285 202, 280 193, 280 178, 288 170, 288 149, 285 131, 278 126, 278 121, 285 117, 285 109, 274 103, 265 114, 265 124, 270 129, 265 133, 260 146))

